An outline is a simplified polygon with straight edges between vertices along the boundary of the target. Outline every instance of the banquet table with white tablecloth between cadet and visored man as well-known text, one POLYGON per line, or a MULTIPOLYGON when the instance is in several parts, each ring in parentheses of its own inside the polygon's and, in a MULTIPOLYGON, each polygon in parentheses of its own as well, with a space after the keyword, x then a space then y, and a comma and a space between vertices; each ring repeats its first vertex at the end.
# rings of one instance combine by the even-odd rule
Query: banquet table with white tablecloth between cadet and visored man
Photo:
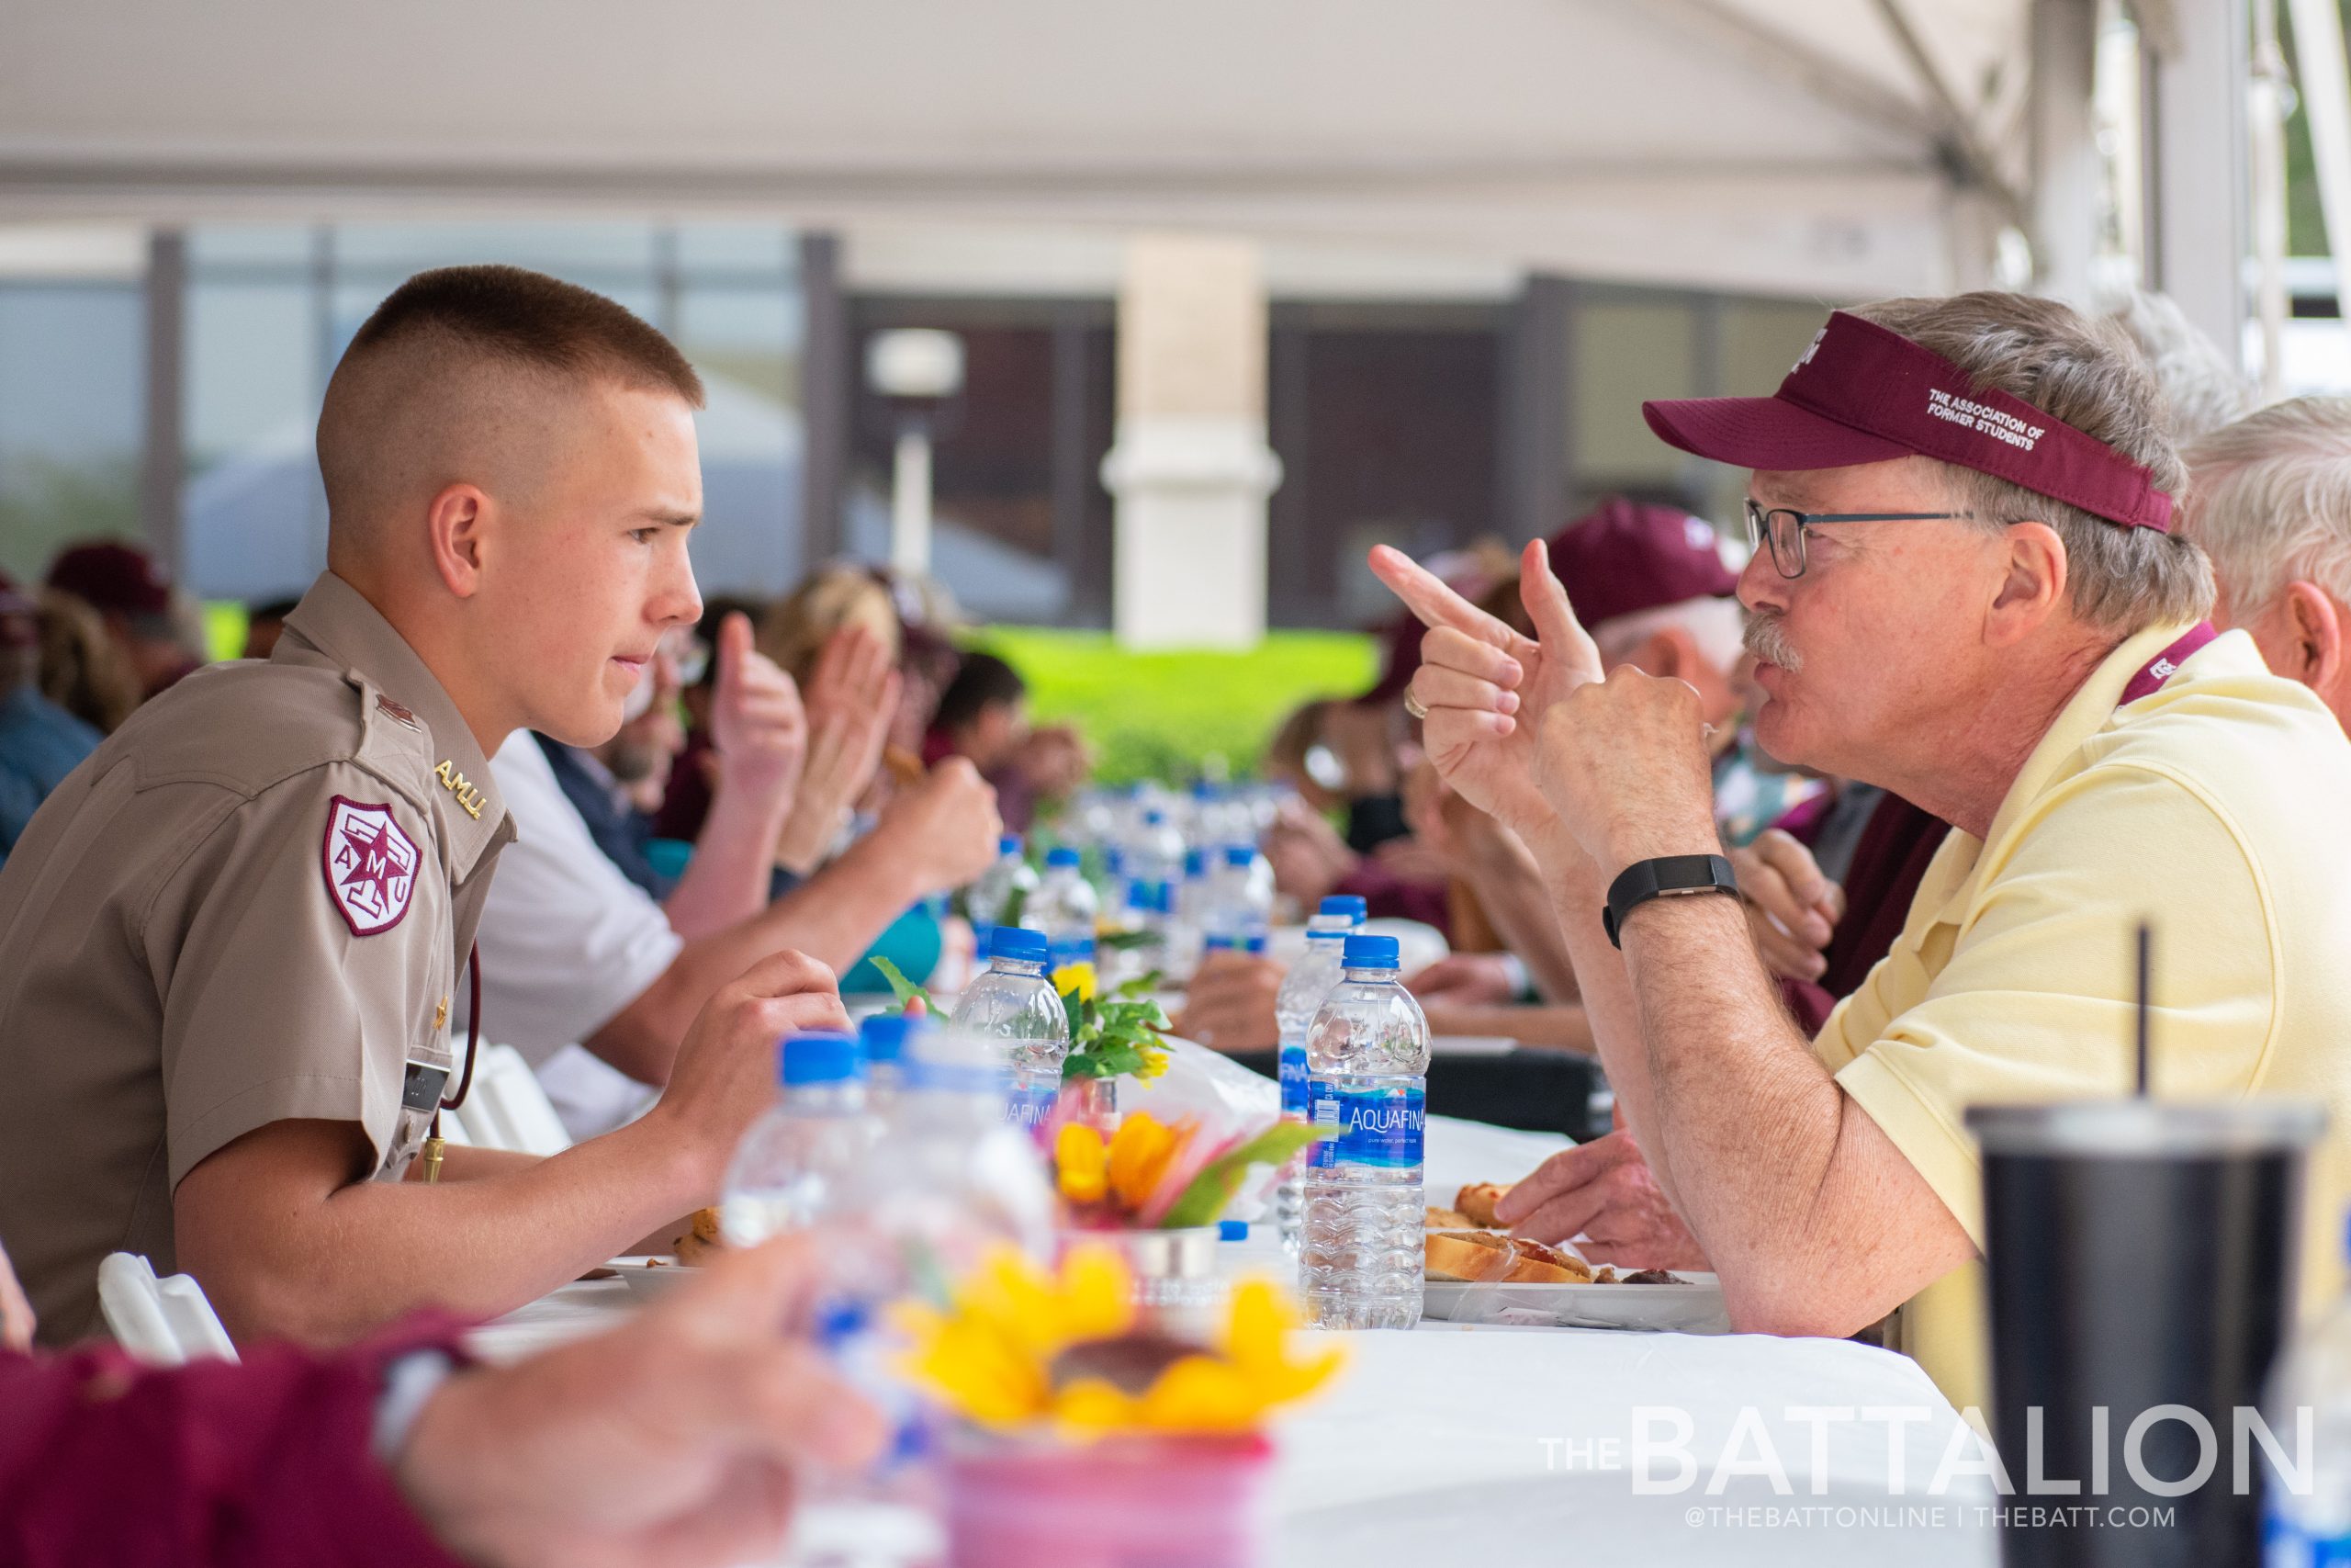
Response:
MULTIPOLYGON (((1512 1180, 1563 1145, 1429 1117, 1427 1185, 1512 1180)), ((520 1356, 630 1302, 618 1279, 578 1281, 482 1326, 475 1347, 520 1356)), ((1970 1474, 1937 1486, 1947 1455, 1977 1448, 1893 1352, 1453 1324, 1347 1340, 1345 1378, 1281 1429, 1281 1568, 1996 1561, 1989 1486, 1970 1474), (1634 1474, 1643 1434, 1650 1493, 1634 1474)))

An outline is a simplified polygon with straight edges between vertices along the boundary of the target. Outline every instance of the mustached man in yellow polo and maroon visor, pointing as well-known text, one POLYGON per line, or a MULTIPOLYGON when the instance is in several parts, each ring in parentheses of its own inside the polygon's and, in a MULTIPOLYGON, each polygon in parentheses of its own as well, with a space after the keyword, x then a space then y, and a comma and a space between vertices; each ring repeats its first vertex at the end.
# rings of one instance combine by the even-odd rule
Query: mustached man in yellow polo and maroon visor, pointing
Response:
MULTIPOLYGON (((1709 865, 1700 698, 1603 670, 1540 550, 1523 583, 1540 639, 1401 555, 1373 567, 1432 625, 1413 686, 1429 757, 1542 865, 1617 1105, 1733 1326, 1850 1335, 1893 1316, 1895 1345, 1977 1403, 1982 1192, 1961 1112, 2130 1084, 2125 938, 2144 917, 2163 933, 2158 1088, 2325 1100, 2309 1213, 2332 1227, 2351 745, 2250 637, 2201 623, 2210 564, 2170 531, 2186 473, 2144 362, 2052 301, 1881 301, 1834 313, 1775 397, 1646 416, 1751 470, 1740 597, 1763 745, 1954 825, 1895 950, 1817 1039, 1735 898, 1625 879, 1735 891, 1709 865)), ((1585 1173, 1568 1166, 1498 1215, 1570 1234, 1585 1173)), ((2306 1286, 2332 1293, 2332 1269, 2306 1286)))

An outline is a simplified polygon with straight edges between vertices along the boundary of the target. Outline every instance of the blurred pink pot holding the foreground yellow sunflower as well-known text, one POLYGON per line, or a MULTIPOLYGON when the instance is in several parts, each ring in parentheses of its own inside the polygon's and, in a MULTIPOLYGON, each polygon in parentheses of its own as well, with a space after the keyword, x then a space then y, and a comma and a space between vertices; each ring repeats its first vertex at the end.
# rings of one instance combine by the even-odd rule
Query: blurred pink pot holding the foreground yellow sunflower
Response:
POLYGON ((1258 1568, 1272 1455, 1258 1434, 957 1443, 947 1568, 1258 1568))

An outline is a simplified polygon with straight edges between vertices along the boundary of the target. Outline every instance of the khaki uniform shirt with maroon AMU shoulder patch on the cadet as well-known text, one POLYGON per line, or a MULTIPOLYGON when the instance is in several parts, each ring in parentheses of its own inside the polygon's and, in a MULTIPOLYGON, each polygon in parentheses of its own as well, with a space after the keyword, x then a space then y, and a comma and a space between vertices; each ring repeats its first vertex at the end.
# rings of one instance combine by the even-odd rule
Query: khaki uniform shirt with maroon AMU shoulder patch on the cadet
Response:
POLYGON ((59 785, 0 870, 0 1244, 42 1342, 103 1326, 106 1253, 174 1272, 174 1187, 259 1126, 355 1121, 407 1168, 508 839, 456 705, 334 574, 268 663, 59 785))

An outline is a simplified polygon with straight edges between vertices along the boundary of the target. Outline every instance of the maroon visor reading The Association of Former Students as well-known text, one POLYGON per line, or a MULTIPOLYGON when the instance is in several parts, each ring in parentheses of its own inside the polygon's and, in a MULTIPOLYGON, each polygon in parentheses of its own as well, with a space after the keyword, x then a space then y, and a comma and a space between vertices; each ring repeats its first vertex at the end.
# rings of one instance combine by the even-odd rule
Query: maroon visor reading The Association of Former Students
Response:
POLYGON ((2130 529, 2172 527, 2172 498, 2144 465, 1843 310, 1770 397, 1643 402, 1641 416, 1660 440, 1735 468, 1848 468, 1916 454, 2130 529))

